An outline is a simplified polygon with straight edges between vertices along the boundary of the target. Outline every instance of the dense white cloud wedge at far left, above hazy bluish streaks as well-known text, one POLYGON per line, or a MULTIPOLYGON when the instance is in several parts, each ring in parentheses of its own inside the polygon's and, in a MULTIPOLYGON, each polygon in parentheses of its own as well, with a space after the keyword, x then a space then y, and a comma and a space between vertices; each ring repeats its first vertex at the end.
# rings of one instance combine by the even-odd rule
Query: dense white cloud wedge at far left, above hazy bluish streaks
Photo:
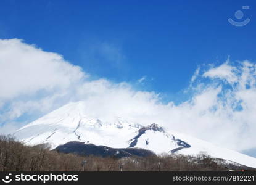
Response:
POLYGON ((66 89, 85 75, 61 55, 44 52, 19 39, 0 40, 0 99, 66 89))

